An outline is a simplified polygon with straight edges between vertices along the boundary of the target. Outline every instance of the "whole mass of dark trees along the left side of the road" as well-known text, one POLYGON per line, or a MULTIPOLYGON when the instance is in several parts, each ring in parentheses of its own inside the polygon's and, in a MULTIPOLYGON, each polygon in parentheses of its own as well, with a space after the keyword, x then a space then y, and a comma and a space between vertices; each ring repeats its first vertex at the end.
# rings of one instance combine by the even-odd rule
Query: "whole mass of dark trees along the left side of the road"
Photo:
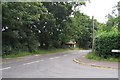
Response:
POLYGON ((77 7, 78 3, 2 3, 3 55, 19 51, 34 52, 40 48, 62 48, 76 35, 70 18, 73 6, 77 7))

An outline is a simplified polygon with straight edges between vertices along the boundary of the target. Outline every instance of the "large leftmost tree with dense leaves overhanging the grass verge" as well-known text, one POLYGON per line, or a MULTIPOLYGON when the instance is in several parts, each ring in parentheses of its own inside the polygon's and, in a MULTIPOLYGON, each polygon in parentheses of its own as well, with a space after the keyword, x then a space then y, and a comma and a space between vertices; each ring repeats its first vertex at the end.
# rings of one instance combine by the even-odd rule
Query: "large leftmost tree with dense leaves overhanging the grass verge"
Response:
POLYGON ((47 10, 38 2, 9 2, 3 3, 2 6, 3 53, 35 50, 38 41, 32 25, 35 21, 39 21, 41 14, 46 13, 47 10))

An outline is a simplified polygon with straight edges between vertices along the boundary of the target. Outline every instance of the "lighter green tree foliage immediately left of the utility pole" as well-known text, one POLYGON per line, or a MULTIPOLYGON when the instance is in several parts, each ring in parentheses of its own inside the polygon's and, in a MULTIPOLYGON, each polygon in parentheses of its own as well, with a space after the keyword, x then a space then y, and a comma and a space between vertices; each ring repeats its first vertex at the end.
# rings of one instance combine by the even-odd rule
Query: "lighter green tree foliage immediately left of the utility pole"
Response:
MULTIPOLYGON (((79 11, 74 13, 72 18, 73 38, 81 48, 91 48, 92 42, 92 20, 89 16, 80 13, 79 11)), ((97 30, 98 22, 95 20, 95 30, 97 30)))

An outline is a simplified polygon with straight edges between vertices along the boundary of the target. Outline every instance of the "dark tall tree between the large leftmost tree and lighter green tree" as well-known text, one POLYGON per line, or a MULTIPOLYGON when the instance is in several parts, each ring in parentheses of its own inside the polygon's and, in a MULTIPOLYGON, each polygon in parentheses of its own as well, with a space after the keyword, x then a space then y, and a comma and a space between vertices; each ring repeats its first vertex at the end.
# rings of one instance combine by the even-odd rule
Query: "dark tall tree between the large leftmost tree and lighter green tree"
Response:
POLYGON ((47 8, 50 14, 53 14, 55 18, 56 26, 53 28, 52 46, 59 48, 62 44, 65 43, 65 39, 63 39, 63 34, 69 34, 66 33, 64 30, 66 29, 66 24, 68 23, 67 21, 69 20, 69 15, 72 12, 72 4, 63 2, 44 2, 43 5, 47 8))

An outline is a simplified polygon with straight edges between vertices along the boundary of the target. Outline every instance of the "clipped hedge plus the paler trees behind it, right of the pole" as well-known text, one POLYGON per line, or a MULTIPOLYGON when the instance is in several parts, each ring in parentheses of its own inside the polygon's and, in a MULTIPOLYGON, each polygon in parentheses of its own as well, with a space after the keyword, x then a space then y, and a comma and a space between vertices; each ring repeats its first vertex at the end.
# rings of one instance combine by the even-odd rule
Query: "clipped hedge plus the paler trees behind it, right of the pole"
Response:
POLYGON ((98 30, 95 31, 95 54, 102 58, 120 57, 119 53, 111 52, 112 49, 120 49, 120 16, 114 14, 108 14, 106 24, 98 24, 98 30))

